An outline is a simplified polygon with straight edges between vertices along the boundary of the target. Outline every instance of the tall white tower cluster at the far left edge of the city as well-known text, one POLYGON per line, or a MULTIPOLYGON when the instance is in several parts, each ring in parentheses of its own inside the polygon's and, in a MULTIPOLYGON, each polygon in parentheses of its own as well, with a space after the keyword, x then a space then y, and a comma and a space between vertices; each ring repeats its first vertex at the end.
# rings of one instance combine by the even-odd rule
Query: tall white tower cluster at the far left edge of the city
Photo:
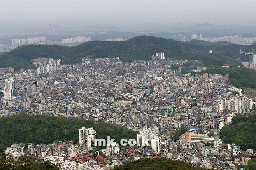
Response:
POLYGON ((14 98, 16 98, 16 89, 14 80, 11 77, 10 79, 5 79, 4 99, 11 100, 14 98))

